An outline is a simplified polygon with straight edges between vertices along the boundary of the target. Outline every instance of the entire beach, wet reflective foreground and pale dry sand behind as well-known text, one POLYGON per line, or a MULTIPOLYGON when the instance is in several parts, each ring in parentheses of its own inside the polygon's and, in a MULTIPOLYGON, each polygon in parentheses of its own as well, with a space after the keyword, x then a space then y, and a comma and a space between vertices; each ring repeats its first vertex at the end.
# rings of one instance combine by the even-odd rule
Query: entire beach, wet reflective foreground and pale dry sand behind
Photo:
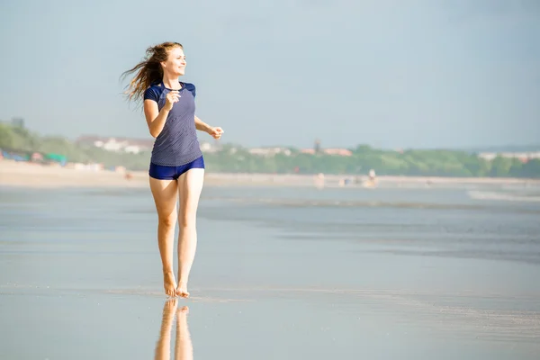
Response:
POLYGON ((209 175, 191 297, 170 302, 146 175, 10 166, 0 358, 540 354, 536 184, 209 175))

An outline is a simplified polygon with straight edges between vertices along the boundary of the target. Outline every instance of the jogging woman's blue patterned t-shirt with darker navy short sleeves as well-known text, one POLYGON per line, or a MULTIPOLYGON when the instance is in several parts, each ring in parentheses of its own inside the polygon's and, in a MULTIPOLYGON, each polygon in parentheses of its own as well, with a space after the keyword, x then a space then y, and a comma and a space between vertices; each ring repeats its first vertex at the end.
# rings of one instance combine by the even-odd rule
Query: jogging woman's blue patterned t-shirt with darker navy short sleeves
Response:
MULTIPOLYGON (((195 85, 180 84, 180 98, 168 113, 165 126, 154 141, 151 162, 156 165, 183 166, 202 156, 195 129, 195 85)), ((170 91, 161 82, 148 87, 143 98, 155 101, 161 111, 170 91)))

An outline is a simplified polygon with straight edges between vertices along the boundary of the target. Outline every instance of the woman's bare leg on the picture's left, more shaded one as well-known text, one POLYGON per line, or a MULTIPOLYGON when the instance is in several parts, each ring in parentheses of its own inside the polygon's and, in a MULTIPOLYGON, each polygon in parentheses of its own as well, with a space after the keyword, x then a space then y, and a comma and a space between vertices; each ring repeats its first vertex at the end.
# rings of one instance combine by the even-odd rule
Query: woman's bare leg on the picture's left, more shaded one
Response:
POLYGON ((175 296, 176 282, 173 267, 175 249, 176 199, 178 185, 176 180, 157 180, 150 177, 150 190, 154 196, 157 210, 157 246, 163 266, 163 285, 168 296, 175 296))

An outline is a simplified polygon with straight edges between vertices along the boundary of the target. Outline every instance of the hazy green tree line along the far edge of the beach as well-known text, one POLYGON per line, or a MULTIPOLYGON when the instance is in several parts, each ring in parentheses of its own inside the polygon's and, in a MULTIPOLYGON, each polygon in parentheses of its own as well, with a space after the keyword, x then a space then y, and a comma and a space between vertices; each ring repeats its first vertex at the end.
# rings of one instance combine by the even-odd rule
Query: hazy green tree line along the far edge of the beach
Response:
MULTIPOLYGON (((94 146, 80 146, 62 137, 40 136, 23 126, 0 124, 0 148, 19 152, 55 153, 69 162, 102 163, 105 167, 125 166, 137 171, 148 170, 150 153, 112 152, 94 146)), ((219 151, 205 153, 204 160, 212 172, 277 174, 343 174, 366 175, 374 169, 377 175, 540 177, 540 159, 526 162, 518 158, 495 157, 486 160, 467 151, 446 149, 383 150, 359 145, 350 148, 349 157, 323 152, 304 154, 290 148, 291 154, 260 156, 247 148, 232 144, 219 151)))

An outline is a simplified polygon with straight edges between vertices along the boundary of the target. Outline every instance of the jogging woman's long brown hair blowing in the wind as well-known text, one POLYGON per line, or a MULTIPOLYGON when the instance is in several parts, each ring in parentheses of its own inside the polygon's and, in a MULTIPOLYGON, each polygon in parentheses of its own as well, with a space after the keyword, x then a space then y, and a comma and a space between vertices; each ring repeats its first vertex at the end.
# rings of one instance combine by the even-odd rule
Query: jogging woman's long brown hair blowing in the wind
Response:
POLYGON ((181 43, 171 41, 149 47, 146 50, 145 59, 122 73, 121 78, 135 73, 124 93, 127 95, 129 101, 142 99, 142 95, 150 85, 154 85, 162 80, 163 68, 161 67, 161 62, 166 61, 169 51, 176 47, 184 49, 181 43))

